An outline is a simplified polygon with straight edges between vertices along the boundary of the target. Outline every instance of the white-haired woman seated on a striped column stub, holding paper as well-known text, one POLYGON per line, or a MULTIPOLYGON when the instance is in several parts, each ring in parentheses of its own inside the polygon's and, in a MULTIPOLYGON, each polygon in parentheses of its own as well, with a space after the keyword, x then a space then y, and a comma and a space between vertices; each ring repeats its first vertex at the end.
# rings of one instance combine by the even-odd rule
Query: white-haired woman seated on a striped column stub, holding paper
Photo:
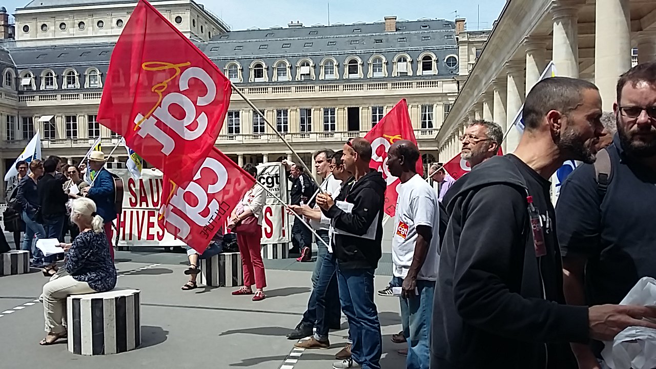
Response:
POLYGON ((43 314, 48 335, 40 345, 51 345, 66 337, 62 320, 66 318, 66 297, 106 292, 116 286, 116 269, 104 234, 102 217, 89 198, 76 198, 71 204, 71 221, 80 234, 72 244, 60 244, 66 251, 64 269, 58 278, 43 286, 43 314))

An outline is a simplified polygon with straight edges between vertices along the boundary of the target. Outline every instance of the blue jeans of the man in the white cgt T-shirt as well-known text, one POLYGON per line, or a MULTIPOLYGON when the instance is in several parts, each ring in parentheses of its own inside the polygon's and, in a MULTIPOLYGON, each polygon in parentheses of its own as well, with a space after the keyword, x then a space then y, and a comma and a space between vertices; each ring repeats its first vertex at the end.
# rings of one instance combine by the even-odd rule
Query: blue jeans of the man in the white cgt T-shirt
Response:
MULTIPOLYGON (((394 277, 394 284, 401 286, 403 278, 394 277)), ((417 280, 419 295, 401 301, 401 324, 408 343, 407 369, 428 369, 430 364, 430 320, 433 316, 435 282, 417 280)))

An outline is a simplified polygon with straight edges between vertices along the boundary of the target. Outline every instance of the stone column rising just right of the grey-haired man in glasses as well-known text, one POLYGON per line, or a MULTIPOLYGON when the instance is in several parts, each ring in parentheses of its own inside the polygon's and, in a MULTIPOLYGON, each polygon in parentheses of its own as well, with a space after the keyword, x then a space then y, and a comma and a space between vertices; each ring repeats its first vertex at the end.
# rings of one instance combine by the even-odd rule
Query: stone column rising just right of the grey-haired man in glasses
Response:
POLYGON ((522 108, 524 97, 524 68, 525 61, 511 61, 506 63, 508 72, 508 86, 506 89, 506 129, 509 129, 508 136, 504 146, 504 152, 513 152, 520 143, 522 133, 515 127, 510 128, 514 123, 517 113, 522 108))

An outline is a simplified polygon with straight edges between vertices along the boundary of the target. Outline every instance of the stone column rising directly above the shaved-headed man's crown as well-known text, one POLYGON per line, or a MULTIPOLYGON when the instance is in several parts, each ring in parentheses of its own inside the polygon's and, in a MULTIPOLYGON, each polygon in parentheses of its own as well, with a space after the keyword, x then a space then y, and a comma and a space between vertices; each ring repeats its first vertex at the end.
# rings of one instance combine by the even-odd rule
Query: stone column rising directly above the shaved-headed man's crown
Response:
POLYGON ((558 76, 579 77, 579 5, 574 1, 557 1, 552 7, 554 20, 553 56, 558 76))

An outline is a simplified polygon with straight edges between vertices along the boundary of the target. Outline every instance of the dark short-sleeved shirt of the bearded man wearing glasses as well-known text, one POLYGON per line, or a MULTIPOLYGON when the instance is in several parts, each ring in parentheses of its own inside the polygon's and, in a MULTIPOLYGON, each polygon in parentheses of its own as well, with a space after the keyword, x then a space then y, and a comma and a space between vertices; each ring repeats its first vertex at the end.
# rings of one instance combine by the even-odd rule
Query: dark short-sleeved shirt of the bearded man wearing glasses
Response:
POLYGON ((640 278, 656 278, 656 173, 631 158, 617 135, 607 150, 612 174, 603 202, 587 164, 567 177, 556 206, 562 254, 589 257, 590 305, 617 304, 640 278))

